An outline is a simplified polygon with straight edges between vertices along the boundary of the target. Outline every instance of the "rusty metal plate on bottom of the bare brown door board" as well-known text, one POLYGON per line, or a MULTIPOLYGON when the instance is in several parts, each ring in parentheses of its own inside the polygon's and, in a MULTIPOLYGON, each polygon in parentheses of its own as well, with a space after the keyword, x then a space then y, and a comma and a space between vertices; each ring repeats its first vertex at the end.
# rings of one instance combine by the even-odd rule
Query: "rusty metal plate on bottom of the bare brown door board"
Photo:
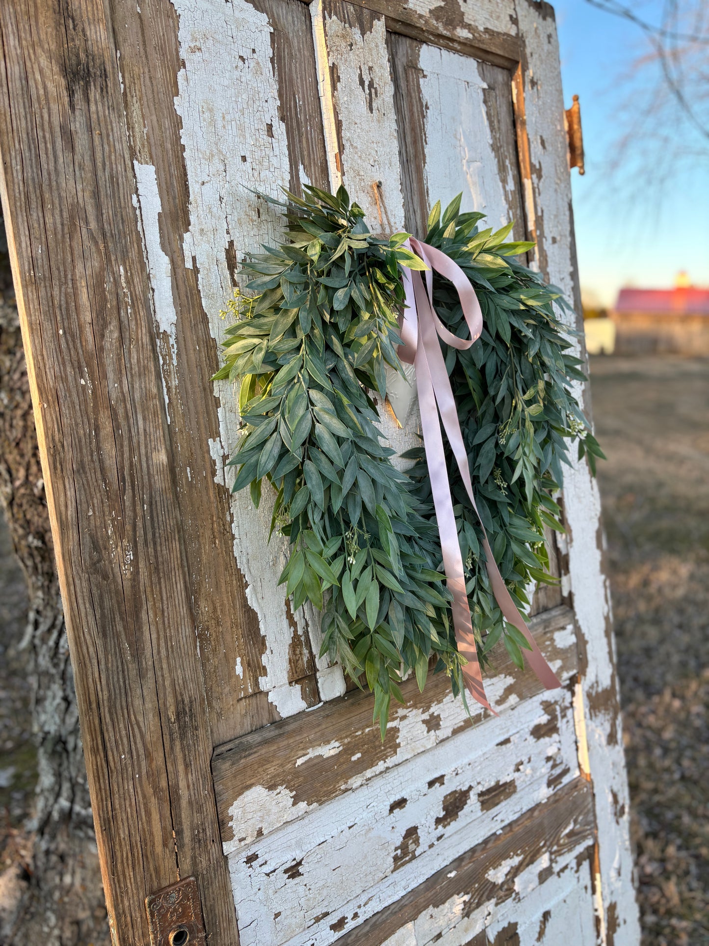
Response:
POLYGON ((199 887, 194 877, 146 897, 150 946, 207 946, 199 887))

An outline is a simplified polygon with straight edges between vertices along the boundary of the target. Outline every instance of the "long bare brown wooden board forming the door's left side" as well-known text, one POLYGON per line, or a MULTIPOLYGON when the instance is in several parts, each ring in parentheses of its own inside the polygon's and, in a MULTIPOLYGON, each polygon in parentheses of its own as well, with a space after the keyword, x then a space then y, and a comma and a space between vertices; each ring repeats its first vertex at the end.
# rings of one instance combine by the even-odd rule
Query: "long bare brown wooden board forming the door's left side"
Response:
POLYGON ((151 289, 103 3, 0 5, 3 204, 78 694, 121 946, 194 874, 238 941, 151 289))

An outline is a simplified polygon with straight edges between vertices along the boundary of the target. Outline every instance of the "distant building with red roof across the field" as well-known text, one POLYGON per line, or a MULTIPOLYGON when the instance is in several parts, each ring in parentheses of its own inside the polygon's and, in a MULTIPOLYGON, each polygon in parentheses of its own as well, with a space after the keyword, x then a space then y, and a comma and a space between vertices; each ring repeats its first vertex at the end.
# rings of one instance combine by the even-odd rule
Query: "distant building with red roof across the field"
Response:
POLYGON ((674 289, 621 289, 611 318, 616 355, 709 356, 709 289, 685 272, 674 289))

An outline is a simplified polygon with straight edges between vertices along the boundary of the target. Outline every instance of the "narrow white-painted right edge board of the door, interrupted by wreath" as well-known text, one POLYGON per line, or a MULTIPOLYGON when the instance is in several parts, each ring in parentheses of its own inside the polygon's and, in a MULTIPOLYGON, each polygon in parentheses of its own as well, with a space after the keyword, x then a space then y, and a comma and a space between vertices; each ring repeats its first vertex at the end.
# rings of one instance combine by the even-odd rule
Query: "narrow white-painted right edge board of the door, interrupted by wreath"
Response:
MULTIPOLYGON (((572 232, 573 220, 556 25, 550 8, 525 0, 518 4, 517 11, 527 49, 527 132, 537 230, 543 250, 540 262, 548 277, 573 299, 576 260, 567 236, 572 232)), ((582 330, 580 318, 579 328, 582 330)), ((579 394, 583 396, 580 390, 579 394)), ((614 946, 636 946, 640 928, 632 885, 628 781, 614 669, 610 590, 602 569, 597 482, 585 461, 574 464, 566 473, 563 495, 569 529, 570 587, 587 654, 582 691, 596 799, 603 941, 614 946)))

